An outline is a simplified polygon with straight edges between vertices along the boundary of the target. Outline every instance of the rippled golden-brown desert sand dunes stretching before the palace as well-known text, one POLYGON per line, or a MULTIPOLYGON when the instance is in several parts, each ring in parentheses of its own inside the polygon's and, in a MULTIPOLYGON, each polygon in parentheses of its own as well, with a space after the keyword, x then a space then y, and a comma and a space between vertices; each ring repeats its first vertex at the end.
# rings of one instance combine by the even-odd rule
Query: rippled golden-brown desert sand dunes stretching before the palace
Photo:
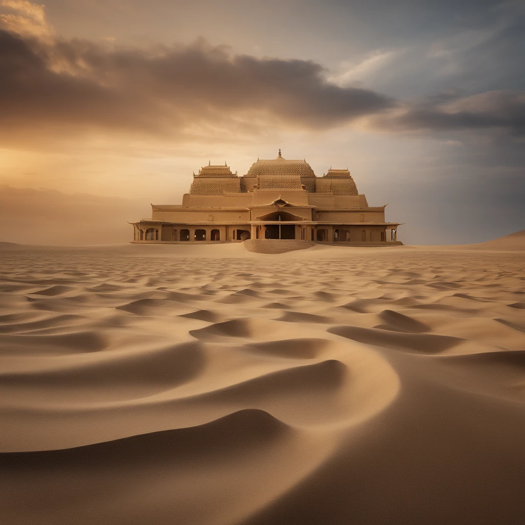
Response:
POLYGON ((524 251, 0 262, 1 523, 522 523, 524 251))

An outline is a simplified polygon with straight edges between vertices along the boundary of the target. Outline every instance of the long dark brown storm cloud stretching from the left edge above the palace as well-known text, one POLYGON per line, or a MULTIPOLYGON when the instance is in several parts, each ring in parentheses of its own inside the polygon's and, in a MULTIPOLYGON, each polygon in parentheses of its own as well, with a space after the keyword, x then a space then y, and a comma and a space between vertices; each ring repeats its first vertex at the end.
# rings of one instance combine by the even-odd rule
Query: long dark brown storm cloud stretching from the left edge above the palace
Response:
POLYGON ((244 111, 331 127, 393 104, 329 83, 323 72, 311 61, 230 55, 202 42, 111 50, 89 41, 49 46, 0 31, 4 129, 49 122, 162 131, 244 111))

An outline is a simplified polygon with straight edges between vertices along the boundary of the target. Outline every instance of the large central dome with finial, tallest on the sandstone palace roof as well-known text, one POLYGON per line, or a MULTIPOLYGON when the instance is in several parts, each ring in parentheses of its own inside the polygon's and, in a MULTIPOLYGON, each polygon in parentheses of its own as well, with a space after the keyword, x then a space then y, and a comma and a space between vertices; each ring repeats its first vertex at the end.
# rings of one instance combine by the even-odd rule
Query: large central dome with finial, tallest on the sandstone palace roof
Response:
POLYGON ((316 174, 306 160, 283 158, 281 150, 276 159, 257 159, 242 177, 241 191, 287 189, 316 191, 316 174))

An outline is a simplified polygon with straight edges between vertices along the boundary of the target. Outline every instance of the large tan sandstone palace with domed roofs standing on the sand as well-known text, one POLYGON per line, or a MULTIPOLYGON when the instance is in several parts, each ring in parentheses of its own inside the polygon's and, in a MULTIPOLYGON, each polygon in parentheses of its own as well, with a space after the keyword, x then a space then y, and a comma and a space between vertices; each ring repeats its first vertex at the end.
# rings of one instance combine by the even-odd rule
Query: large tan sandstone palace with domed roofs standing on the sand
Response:
POLYGON ((369 206, 348 170, 317 177, 306 160, 284 159, 279 150, 277 159, 258 159, 243 176, 210 163, 193 174, 182 204, 152 204, 151 219, 131 224, 138 243, 401 244, 400 223, 385 222, 385 206, 369 206))

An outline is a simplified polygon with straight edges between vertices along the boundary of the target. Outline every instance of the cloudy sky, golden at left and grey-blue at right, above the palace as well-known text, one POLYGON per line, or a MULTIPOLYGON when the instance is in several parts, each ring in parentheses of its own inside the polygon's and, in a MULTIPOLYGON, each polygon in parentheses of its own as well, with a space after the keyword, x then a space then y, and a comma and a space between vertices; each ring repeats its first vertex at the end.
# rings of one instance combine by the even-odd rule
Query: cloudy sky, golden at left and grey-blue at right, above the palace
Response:
POLYGON ((524 229, 523 56, 514 0, 0 0, 0 240, 125 242, 279 148, 406 244, 524 229))

